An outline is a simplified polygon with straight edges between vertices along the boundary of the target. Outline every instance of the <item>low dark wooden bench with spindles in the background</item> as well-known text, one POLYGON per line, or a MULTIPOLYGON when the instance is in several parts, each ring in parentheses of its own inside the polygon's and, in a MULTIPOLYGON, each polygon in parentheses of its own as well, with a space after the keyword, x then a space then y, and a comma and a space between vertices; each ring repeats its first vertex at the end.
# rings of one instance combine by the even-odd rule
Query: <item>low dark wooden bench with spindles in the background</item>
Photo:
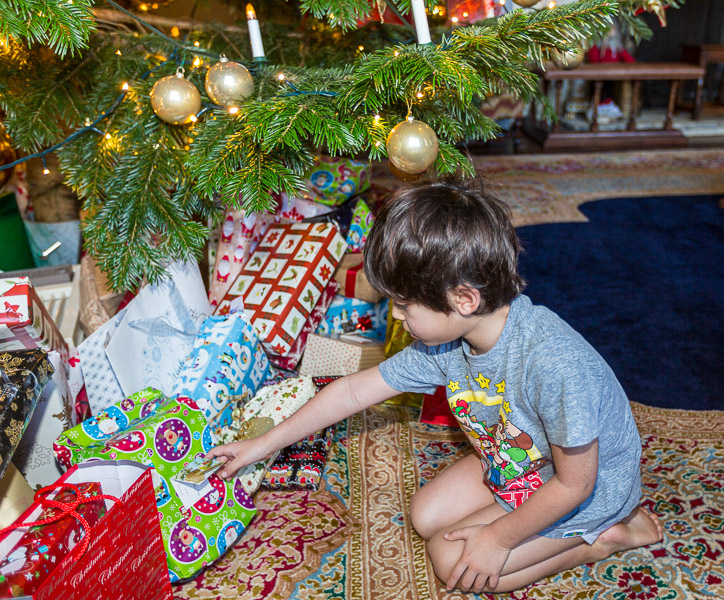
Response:
POLYGON ((623 150, 640 148, 679 148, 687 146, 684 135, 672 125, 674 104, 680 82, 702 80, 704 68, 691 63, 591 63, 575 69, 550 68, 539 73, 544 92, 552 83, 554 109, 558 117, 552 126, 535 120, 532 107, 525 131, 543 145, 544 152, 564 150, 623 150), (560 118, 563 113, 561 89, 565 80, 583 79, 593 82, 591 100, 592 117, 588 131, 562 131, 560 118), (666 80, 671 82, 666 118, 661 129, 637 129, 636 115, 642 81, 666 80), (601 131, 598 124, 598 105, 604 81, 631 81, 631 111, 624 130, 601 131))

